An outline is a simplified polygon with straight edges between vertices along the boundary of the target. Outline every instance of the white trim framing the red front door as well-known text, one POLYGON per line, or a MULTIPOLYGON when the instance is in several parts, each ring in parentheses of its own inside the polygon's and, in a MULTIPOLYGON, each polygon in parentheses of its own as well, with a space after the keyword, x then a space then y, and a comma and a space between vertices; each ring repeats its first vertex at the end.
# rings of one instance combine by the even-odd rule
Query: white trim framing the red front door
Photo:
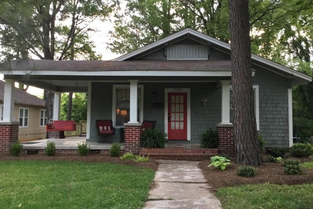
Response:
MULTIPOLYGON (((177 88, 166 88, 164 89, 164 132, 168 133, 167 130, 167 102, 168 102, 168 92, 187 92, 187 141, 191 140, 191 129, 190 129, 190 88, 181 88, 182 91, 175 91, 177 88)), ((180 88, 179 88, 180 89, 180 88)), ((174 141, 174 140, 173 140, 174 141)))

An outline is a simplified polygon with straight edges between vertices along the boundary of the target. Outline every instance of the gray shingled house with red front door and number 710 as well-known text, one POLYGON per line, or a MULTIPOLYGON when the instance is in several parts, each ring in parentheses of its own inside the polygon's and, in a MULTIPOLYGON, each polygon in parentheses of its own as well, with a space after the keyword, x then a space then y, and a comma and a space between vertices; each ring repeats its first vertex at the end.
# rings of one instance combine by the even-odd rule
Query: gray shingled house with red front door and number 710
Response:
MULTIPOLYGON (((258 132, 266 147, 290 147, 292 87, 312 78, 251 56, 258 132)), ((115 133, 125 128, 125 151, 141 152, 142 122, 151 120, 181 147, 198 144, 205 130, 217 129, 220 153, 234 154, 230 45, 193 29, 110 61, 28 60, 12 62, 4 74, 5 109, 12 108, 10 82, 15 80, 54 92, 54 120, 59 119, 61 92, 88 92, 87 142, 101 140, 95 121, 110 119, 115 133)), ((13 126, 13 119, 10 112, 4 115, 6 124, 13 126)))

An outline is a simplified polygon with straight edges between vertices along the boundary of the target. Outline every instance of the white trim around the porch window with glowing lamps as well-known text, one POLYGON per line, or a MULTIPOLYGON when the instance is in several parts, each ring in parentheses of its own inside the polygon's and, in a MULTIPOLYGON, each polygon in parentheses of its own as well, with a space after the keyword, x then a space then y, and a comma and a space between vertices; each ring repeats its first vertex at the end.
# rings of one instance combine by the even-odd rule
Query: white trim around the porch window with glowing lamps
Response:
MULTIPOLYGON (((144 85, 138 85, 138 88, 140 88, 140 123, 143 122, 143 86, 144 85)), ((131 89, 130 84, 125 85, 113 85, 113 94, 112 94, 112 123, 113 127, 115 128, 124 128, 125 126, 116 126, 115 125, 115 118, 116 118, 116 89, 131 89)))

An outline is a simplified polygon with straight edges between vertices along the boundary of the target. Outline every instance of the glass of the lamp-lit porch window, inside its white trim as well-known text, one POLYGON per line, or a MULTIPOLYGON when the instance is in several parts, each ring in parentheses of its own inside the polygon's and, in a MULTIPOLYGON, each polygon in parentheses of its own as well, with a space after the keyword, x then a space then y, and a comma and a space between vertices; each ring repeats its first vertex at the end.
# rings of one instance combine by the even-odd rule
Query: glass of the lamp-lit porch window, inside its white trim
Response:
MULTIPOLYGON (((137 120, 140 121, 141 88, 138 88, 137 120)), ((115 126, 124 126, 129 121, 130 88, 115 89, 115 126)))

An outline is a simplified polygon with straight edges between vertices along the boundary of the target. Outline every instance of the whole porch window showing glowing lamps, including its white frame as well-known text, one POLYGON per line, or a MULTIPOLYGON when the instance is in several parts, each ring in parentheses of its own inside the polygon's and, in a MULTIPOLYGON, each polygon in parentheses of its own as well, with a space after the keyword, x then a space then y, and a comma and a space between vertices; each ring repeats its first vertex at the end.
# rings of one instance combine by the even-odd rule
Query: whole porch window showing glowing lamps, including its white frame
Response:
MULTIPOLYGON (((143 120, 143 86, 138 85, 137 93, 137 120, 143 120)), ((113 114, 112 121, 114 127, 123 127, 130 119, 130 86, 113 85, 113 114)))

